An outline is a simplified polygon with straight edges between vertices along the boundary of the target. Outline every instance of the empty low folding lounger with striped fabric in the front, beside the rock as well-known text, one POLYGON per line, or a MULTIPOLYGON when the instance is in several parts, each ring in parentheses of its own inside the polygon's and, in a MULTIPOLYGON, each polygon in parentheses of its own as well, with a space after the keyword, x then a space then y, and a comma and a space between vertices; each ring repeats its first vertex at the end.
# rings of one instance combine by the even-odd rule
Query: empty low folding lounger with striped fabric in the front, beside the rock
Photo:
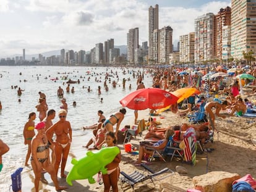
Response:
MULTIPOLYGON (((147 166, 145 165, 145 167, 147 167, 147 166)), ((169 177, 169 176, 173 175, 173 173, 174 173, 173 170, 168 169, 167 167, 158 171, 158 172, 154 172, 152 169, 150 169, 148 167, 145 168, 145 169, 147 169, 150 173, 148 173, 146 175, 144 173, 141 173, 141 172, 135 170, 133 173, 128 175, 125 172, 120 172, 121 175, 123 176, 123 177, 120 177, 120 180, 121 180, 121 183, 122 183, 121 188, 123 188, 124 183, 127 183, 130 186, 130 188, 132 188, 132 190, 135 191, 134 190, 134 185, 137 184, 137 183, 145 182, 146 180, 150 180, 150 182, 153 183, 153 185, 155 187, 154 180, 155 181, 162 180, 166 177, 169 177), (162 175, 164 173, 168 173, 168 175, 167 176, 165 175, 164 177, 158 178, 159 175, 162 175)))

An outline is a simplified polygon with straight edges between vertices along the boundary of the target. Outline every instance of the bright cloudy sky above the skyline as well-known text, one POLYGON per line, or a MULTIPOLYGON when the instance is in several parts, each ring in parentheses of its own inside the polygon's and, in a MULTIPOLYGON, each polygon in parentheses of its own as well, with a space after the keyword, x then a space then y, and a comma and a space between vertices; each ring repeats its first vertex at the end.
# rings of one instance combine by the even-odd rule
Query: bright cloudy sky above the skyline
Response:
MULTIPOLYGON (((64 49, 90 51, 111 38, 127 44, 139 27, 139 43, 148 41, 148 7, 159 6, 159 28, 173 28, 173 43, 194 31, 194 20, 218 14, 231 0, 0 0, 0 57, 64 49)), ((174 44, 176 46, 176 44, 174 44)))

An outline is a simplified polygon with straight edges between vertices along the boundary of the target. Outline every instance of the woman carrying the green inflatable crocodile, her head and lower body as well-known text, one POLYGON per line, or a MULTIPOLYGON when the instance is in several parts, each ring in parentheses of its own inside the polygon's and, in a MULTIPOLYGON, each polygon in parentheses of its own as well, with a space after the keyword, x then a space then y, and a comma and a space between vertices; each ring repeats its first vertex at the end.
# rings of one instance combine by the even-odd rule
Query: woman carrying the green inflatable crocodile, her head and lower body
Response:
MULTIPOLYGON (((102 148, 115 146, 116 138, 114 133, 111 131, 107 132, 105 136, 105 141, 106 143, 103 144, 102 148)), ((117 182, 120 174, 120 169, 119 169, 120 161, 121 161, 121 152, 117 154, 117 156, 114 158, 114 160, 110 164, 106 165, 106 169, 108 169, 108 173, 106 175, 102 175, 105 192, 108 192, 111 187, 113 192, 118 191, 117 182)))

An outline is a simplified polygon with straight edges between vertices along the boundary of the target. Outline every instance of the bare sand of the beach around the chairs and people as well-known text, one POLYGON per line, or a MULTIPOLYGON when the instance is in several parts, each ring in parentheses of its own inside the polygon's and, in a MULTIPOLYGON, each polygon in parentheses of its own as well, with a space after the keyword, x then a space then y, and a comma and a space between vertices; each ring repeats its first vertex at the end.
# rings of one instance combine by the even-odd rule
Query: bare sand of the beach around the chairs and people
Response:
MULTIPOLYGON (((147 111, 139 113, 139 119, 147 119, 147 111)), ((181 123, 188 122, 187 118, 179 117, 177 114, 172 112, 163 112, 161 116, 156 116, 156 120, 161 122, 161 127, 167 127, 168 125, 181 125, 181 123), (160 119, 161 117, 161 119, 160 119)), ((130 120, 130 125, 132 125, 132 119, 130 120)), ((173 191, 187 190, 187 188, 193 188, 192 178, 197 175, 202 175, 211 171, 225 171, 230 173, 238 173, 244 176, 250 173, 252 177, 256 177, 255 167, 255 151, 256 148, 252 143, 252 139, 256 139, 256 119, 244 118, 244 117, 228 117, 226 119, 217 118, 216 119, 216 129, 214 135, 213 143, 206 144, 207 148, 215 149, 212 152, 205 152, 203 154, 197 155, 197 163, 192 165, 183 164, 182 162, 173 161, 163 162, 158 159, 156 161, 150 162, 148 165, 153 170, 161 170, 164 167, 168 167, 175 173, 164 180, 155 182, 156 186, 154 188, 153 183, 140 183, 135 185, 135 191, 160 191, 161 188, 168 183, 169 188, 173 188, 173 191), (176 165, 182 165, 186 167, 188 173, 186 175, 180 175, 176 172, 176 165), (177 188, 176 188, 177 187, 177 188), (179 188, 179 190, 178 190, 179 188)), ((147 130, 143 131, 143 135, 147 133, 147 130)), ((139 141, 143 140, 143 135, 139 135, 132 139, 130 143, 136 148, 139 147, 139 141)), ((79 141, 78 141, 79 142, 79 141)), ((119 164, 121 171, 126 173, 132 173, 134 170, 139 170, 143 172, 143 167, 137 167, 134 162, 137 160, 138 155, 132 155, 124 151, 124 146, 118 144, 121 149, 122 161, 119 164)), ((77 159, 84 156, 85 150, 82 148, 72 149, 72 153, 75 154, 77 159)), ((70 162, 70 159, 69 161, 70 162)), ((70 163, 66 166, 66 171, 72 168, 70 163)), ((40 184, 41 191, 54 191, 53 183, 49 178, 48 173, 45 174, 46 179, 49 184, 40 184)), ((97 175, 94 177, 97 179, 97 175)), ((64 178, 59 178, 61 185, 66 185, 64 178)), ((69 188, 65 191, 103 191, 104 185, 99 185, 98 183, 89 184, 87 180, 77 180, 73 182, 73 186, 68 186, 69 188)), ((121 189, 121 182, 119 182, 119 191, 132 191, 129 186, 121 189)), ((33 191, 33 172, 29 167, 26 167, 22 172, 22 191, 33 191)))

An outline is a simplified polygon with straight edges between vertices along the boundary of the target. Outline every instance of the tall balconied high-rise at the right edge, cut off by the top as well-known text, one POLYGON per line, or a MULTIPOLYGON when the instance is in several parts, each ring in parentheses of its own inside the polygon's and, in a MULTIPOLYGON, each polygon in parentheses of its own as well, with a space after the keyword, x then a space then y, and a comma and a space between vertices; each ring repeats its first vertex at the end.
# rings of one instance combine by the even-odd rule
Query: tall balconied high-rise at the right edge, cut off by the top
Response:
POLYGON ((231 0, 231 56, 243 59, 243 53, 256 54, 256 0, 231 0))

